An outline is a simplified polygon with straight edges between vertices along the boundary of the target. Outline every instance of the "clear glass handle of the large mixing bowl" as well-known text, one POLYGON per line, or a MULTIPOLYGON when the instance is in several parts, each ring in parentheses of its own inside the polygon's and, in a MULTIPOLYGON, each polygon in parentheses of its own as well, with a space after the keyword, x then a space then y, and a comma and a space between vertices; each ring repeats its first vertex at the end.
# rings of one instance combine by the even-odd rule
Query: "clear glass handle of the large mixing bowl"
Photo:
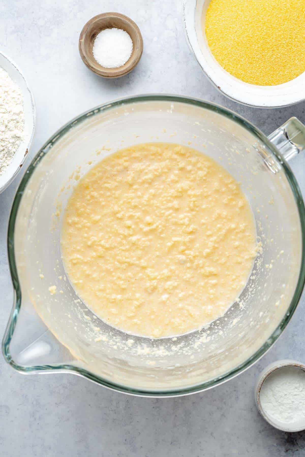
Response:
POLYGON ((291 117, 281 127, 268 136, 285 160, 305 150, 305 125, 296 117, 291 117))

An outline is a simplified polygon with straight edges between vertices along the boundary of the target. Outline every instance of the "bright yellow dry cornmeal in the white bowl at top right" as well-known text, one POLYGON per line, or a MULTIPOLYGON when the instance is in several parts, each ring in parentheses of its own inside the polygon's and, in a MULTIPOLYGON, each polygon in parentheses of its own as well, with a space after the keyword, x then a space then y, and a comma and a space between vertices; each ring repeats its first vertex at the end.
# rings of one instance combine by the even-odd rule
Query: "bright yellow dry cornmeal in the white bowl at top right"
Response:
POLYGON ((203 28, 215 59, 242 81, 277 85, 305 71, 305 0, 212 0, 203 28))

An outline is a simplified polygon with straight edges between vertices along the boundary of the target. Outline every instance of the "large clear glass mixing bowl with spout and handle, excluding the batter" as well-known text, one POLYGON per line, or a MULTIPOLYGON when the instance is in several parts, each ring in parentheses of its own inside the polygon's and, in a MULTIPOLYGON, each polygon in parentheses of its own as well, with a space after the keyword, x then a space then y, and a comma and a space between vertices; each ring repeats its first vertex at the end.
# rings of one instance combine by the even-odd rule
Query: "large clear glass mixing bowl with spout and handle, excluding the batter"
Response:
POLYGON ((65 125, 32 160, 11 209, 6 361, 23 373, 73 372, 150 396, 198 392, 250 367, 282 333, 304 286, 304 203, 287 165, 304 146, 295 118, 267 138, 225 108, 177 96, 114 101, 65 125), (191 145, 240 181, 261 247, 226 314, 177 339, 131 336, 98 319, 75 294, 60 255, 63 209, 80 176, 107 154, 153 141, 191 145))

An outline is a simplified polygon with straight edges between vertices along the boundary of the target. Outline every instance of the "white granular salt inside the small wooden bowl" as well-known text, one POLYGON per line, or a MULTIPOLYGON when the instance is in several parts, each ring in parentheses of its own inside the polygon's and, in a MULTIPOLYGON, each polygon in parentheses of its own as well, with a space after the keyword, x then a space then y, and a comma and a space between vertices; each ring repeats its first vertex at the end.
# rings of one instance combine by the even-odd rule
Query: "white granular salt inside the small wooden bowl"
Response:
POLYGON ((133 50, 129 34, 118 28, 102 30, 93 43, 93 56, 105 68, 119 68, 126 64, 133 50))

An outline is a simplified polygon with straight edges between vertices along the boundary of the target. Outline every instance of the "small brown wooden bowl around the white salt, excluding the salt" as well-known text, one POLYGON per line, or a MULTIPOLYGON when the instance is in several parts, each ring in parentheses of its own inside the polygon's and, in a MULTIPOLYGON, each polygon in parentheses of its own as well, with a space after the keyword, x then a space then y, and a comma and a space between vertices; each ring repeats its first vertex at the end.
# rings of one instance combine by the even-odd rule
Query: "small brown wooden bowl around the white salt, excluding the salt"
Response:
POLYGON ((95 74, 103 78, 120 78, 132 71, 138 64, 143 52, 143 38, 139 27, 129 17, 120 13, 103 13, 92 17, 85 24, 80 32, 78 48, 84 64, 95 74), (105 68, 96 62, 92 48, 96 35, 104 29, 113 27, 125 30, 130 35, 134 48, 130 58, 122 67, 105 68))

